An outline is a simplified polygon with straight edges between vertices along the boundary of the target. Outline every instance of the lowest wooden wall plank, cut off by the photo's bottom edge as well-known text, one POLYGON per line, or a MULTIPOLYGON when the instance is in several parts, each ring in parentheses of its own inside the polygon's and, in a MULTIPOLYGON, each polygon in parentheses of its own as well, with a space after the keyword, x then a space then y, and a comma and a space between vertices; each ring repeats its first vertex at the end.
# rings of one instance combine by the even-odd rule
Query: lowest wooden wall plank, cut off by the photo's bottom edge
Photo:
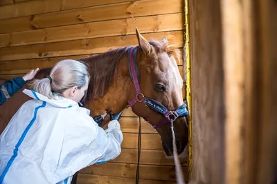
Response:
MULTIPOLYGON (((94 174, 78 174, 77 179, 78 184, 105 184, 105 183, 116 183, 116 184, 134 184, 136 183, 135 178, 123 178, 116 176, 103 176, 94 174)), ((155 180, 145 180, 139 179, 139 183, 143 184, 175 184, 174 181, 155 181, 155 180)))

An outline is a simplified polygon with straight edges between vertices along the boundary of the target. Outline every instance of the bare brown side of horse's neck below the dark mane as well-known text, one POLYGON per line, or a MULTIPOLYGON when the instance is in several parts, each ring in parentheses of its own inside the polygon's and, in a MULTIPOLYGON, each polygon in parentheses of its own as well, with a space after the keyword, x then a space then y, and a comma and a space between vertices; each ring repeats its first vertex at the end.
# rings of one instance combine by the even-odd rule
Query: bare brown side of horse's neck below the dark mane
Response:
POLYGON ((129 92, 132 91, 130 88, 134 88, 134 85, 129 79, 127 60, 122 59, 107 93, 100 99, 89 100, 86 108, 91 110, 91 116, 104 114, 107 108, 118 113, 127 106, 129 92))

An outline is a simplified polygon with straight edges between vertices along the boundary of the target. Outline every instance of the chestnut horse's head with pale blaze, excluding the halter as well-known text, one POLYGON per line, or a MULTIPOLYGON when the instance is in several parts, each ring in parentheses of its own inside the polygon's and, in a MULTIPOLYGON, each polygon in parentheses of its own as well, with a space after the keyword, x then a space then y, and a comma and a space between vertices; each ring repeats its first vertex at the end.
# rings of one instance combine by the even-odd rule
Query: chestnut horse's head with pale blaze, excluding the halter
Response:
MULTIPOLYGON (((169 112, 175 112, 177 108, 184 104, 184 96, 182 95, 183 79, 175 61, 175 57, 177 59, 180 57, 179 50, 170 47, 166 37, 163 37, 161 41, 148 42, 139 34, 138 30, 136 30, 136 36, 139 40, 140 48, 137 50, 137 62, 139 65, 141 93, 145 98, 154 99, 161 103, 169 112)), ((135 98, 134 93, 130 94, 129 99, 135 98)), ((138 99, 143 97, 142 95, 137 96, 138 99)), ((159 103, 155 101, 150 100, 150 105, 152 103, 154 107, 159 106, 159 103)), ((163 149, 168 156, 172 155, 172 132, 170 122, 163 122, 165 116, 145 107, 145 103, 136 103, 132 106, 132 110, 138 116, 145 118, 154 127, 157 126, 157 132, 159 132, 163 141, 163 149)), ((175 119, 175 116, 171 114, 170 118, 175 119)), ((188 143, 188 125, 184 116, 175 119, 174 130, 177 152, 181 154, 188 143)))

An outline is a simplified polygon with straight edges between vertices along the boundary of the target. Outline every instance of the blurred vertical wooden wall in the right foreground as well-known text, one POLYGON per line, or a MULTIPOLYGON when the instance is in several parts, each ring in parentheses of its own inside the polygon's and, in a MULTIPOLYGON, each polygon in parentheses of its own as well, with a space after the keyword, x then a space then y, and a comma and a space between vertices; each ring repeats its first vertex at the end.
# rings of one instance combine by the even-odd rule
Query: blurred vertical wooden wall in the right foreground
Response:
POLYGON ((205 184, 274 184, 277 2, 188 2, 191 178, 205 184))

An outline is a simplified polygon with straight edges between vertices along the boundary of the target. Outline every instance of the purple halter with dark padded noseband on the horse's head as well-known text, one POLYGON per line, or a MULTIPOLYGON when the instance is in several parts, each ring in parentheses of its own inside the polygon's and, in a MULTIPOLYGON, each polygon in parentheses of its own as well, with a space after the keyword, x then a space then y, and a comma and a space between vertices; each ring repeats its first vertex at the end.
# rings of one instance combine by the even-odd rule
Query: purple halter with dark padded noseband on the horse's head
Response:
POLYGON ((128 64, 129 64, 129 74, 136 88, 136 97, 129 101, 129 106, 132 108, 137 102, 144 103, 148 108, 154 110, 159 114, 164 116, 159 123, 152 125, 155 129, 175 121, 179 117, 188 116, 188 110, 186 109, 186 103, 182 104, 175 111, 169 111, 164 105, 155 101, 154 99, 146 98, 143 93, 141 93, 141 88, 139 88, 139 70, 136 62, 136 52, 139 46, 134 48, 129 48, 128 50, 128 64))

